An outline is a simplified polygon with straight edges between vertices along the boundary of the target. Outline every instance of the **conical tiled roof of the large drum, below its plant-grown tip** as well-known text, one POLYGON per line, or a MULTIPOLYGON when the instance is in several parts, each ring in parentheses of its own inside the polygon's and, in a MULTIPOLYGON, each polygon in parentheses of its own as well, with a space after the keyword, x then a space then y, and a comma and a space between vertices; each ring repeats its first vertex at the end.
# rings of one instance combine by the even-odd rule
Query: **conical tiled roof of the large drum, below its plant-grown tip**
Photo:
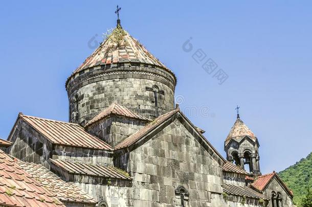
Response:
POLYGON ((112 38, 106 38, 99 48, 96 49, 86 60, 76 69, 75 73, 88 67, 105 65, 118 62, 141 62, 166 68, 157 58, 148 52, 144 46, 125 31, 120 47, 112 38))

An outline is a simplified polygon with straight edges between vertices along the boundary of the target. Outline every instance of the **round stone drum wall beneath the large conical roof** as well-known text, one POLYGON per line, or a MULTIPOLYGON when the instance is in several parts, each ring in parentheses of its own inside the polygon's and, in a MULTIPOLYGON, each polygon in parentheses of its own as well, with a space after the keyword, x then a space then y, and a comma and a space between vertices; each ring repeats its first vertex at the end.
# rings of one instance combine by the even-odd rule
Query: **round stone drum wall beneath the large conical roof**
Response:
POLYGON ((174 87, 173 74, 161 68, 125 66, 85 73, 66 85, 70 122, 86 124, 114 102, 153 119, 173 109, 174 87), (154 86, 158 88, 157 106, 154 86))

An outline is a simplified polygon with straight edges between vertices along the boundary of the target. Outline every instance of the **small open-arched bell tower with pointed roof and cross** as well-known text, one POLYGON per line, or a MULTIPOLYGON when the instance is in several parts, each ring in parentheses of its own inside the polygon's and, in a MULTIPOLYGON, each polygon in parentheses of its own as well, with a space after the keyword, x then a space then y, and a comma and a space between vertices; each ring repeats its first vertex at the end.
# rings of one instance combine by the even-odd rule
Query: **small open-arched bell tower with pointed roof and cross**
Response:
POLYGON ((227 160, 254 175, 261 175, 258 139, 240 119, 238 109, 237 119, 225 141, 227 160))

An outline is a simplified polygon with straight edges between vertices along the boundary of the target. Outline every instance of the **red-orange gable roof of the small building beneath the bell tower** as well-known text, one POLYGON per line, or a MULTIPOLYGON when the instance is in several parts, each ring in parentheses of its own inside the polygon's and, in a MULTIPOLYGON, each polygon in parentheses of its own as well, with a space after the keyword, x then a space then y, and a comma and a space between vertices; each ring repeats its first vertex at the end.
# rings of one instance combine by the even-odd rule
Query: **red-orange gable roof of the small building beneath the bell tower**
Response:
POLYGON ((273 173, 258 176, 256 179, 254 179, 255 181, 252 183, 251 186, 257 189, 258 191, 263 192, 266 189, 266 187, 269 186, 273 178, 277 179, 277 181, 284 188, 284 190, 288 193, 288 195, 292 197, 294 196, 293 192, 287 188, 285 183, 280 179, 280 177, 277 175, 275 171, 273 171, 273 173))

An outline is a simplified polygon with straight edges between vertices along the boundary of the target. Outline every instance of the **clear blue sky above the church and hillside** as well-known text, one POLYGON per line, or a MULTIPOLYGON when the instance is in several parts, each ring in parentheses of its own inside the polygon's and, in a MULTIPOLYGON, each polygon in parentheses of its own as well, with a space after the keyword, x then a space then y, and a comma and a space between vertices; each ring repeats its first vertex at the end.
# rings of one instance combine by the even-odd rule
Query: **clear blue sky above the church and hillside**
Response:
POLYGON ((176 74, 182 110, 220 153, 237 104, 259 139, 262 173, 312 151, 310 1, 3 2, 0 137, 19 111, 68 121, 65 80, 93 52, 88 42, 115 27, 117 4, 123 28, 176 74), (192 58, 198 49, 228 75, 224 83, 192 58), (203 107, 208 116, 188 111, 203 107))

